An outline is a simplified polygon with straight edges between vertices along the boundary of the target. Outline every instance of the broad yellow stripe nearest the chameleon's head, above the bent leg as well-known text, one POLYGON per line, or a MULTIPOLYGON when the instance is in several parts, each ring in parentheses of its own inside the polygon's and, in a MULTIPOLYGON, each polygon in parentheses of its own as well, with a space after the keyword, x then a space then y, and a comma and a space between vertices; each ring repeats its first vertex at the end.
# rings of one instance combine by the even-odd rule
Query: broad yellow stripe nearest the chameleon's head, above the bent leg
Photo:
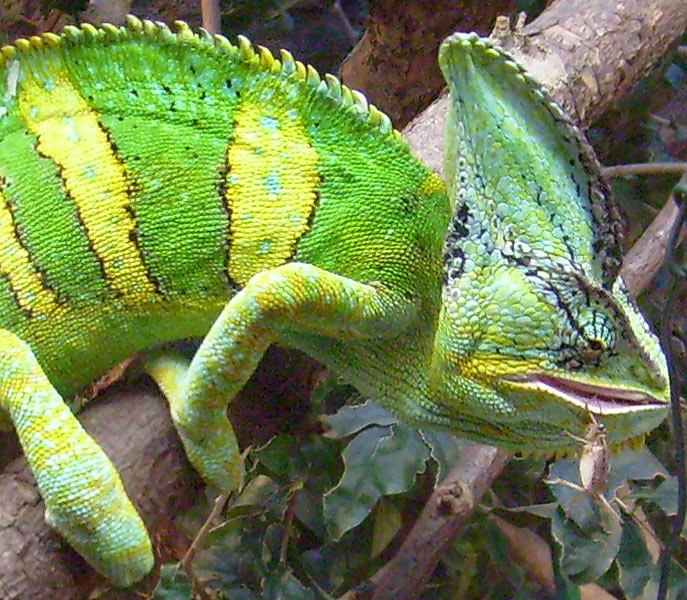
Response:
POLYGON ((278 102, 264 112, 244 103, 227 150, 231 209, 229 274, 240 285, 287 262, 309 229, 320 176, 300 117, 278 102))

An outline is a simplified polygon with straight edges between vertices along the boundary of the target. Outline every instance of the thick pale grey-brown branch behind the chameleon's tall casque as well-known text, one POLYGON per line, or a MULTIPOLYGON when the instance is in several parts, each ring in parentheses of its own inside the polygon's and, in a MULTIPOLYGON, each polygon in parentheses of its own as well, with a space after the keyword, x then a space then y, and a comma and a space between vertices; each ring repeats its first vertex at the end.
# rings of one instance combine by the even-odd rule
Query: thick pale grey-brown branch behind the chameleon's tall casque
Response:
MULTIPOLYGON (((682 0, 559 0, 502 45, 587 128, 656 66, 686 27, 682 0)), ((405 132, 436 171, 447 106, 444 93, 405 132)))

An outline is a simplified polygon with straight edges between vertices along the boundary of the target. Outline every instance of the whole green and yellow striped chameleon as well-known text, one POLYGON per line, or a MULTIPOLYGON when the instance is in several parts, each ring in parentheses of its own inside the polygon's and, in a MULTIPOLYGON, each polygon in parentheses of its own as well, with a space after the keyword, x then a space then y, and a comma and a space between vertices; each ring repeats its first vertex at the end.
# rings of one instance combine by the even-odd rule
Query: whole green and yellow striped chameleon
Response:
POLYGON ((589 146, 487 41, 439 60, 447 186, 360 94, 243 38, 130 17, 2 48, 0 420, 50 524, 116 584, 151 543, 65 400, 144 350, 224 491, 227 404, 274 342, 411 424, 513 450, 576 450, 590 415, 617 445, 667 414, 589 146), (159 349, 189 337, 190 362, 159 349))

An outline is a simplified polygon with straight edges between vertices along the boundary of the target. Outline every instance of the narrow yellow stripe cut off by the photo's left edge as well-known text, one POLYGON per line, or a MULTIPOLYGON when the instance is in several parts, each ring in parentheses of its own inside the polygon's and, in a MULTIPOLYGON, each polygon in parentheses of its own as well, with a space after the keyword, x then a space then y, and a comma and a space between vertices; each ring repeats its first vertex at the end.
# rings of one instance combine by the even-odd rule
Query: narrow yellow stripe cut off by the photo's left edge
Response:
POLYGON ((64 308, 57 296, 45 287, 31 256, 17 238, 14 218, 6 196, 0 190, 0 273, 9 281, 22 310, 37 318, 57 316, 64 308))

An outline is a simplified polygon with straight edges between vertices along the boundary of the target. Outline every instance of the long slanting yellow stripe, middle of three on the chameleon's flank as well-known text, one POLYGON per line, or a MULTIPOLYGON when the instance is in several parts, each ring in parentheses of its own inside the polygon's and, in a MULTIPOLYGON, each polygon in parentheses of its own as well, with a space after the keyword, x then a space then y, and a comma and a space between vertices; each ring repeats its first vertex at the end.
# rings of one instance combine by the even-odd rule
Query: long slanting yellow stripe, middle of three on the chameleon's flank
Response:
POLYGON ((109 286, 127 301, 142 302, 155 293, 133 234, 131 182, 97 114, 86 104, 57 65, 39 80, 27 73, 19 110, 38 151, 61 169, 67 193, 76 204, 91 246, 109 286))

